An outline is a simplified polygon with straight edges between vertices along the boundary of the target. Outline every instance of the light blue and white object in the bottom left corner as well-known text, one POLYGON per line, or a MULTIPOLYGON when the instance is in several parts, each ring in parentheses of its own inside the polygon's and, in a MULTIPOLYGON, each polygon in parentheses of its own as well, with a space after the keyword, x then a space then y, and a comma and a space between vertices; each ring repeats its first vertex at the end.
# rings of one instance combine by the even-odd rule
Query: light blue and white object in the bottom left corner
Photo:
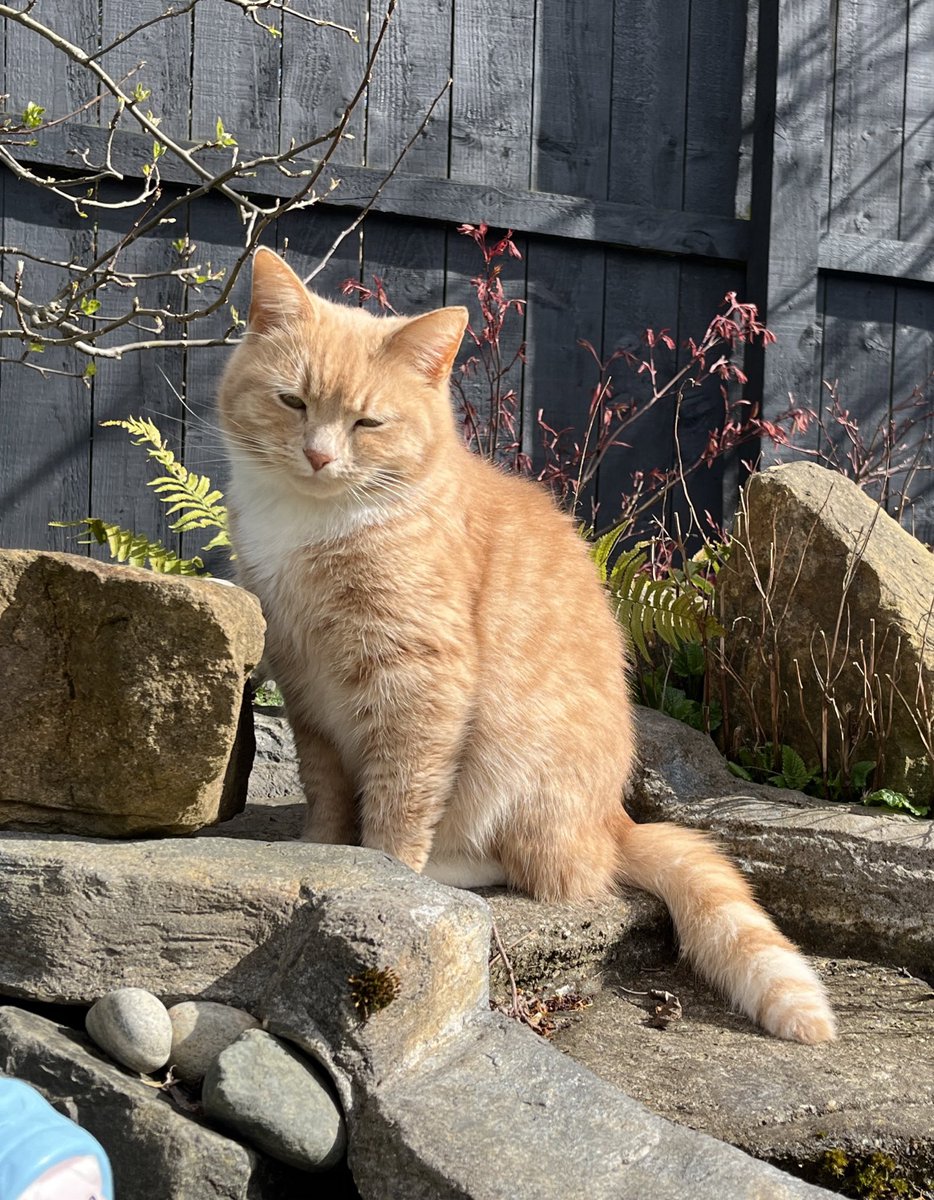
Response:
POLYGON ((103 1147, 22 1079, 0 1075, 0 1200, 114 1200, 103 1147))

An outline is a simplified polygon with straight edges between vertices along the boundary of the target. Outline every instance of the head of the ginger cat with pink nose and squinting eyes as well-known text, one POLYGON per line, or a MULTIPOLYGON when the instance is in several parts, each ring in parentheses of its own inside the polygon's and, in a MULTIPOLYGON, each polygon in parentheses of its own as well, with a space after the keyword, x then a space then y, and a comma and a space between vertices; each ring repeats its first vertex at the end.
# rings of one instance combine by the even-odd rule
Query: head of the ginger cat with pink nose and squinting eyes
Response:
POLYGON ((309 497, 385 499, 456 442, 448 379, 466 308, 373 317, 311 294, 269 250, 220 390, 232 455, 309 497))

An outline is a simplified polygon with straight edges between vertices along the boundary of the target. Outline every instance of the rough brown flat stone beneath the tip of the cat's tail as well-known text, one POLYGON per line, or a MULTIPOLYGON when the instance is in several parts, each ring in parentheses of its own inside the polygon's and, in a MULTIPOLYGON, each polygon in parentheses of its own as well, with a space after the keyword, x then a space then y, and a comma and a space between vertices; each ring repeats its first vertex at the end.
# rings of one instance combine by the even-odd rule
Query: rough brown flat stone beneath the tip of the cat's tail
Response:
POLYGON ((930 986, 890 967, 813 962, 839 1015, 837 1043, 804 1049, 756 1036, 675 962, 607 972, 593 1007, 553 1043, 653 1112, 756 1158, 828 1183, 830 1156, 860 1164, 882 1154, 911 1184, 906 1195, 930 1194, 930 986), (652 1027, 646 1001, 631 995, 647 989, 675 992, 683 1019, 652 1027))

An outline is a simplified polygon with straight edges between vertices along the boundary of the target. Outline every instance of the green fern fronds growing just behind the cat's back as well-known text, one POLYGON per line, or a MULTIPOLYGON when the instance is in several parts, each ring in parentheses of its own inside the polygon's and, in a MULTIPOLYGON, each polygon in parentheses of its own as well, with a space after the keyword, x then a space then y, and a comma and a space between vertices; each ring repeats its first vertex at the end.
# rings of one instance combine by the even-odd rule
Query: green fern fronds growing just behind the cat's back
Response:
POLYGON ((649 644, 655 638, 677 649, 685 642, 720 636, 723 630, 711 614, 713 584, 702 564, 688 563, 664 580, 653 580, 646 571, 651 545, 647 541, 619 551, 613 562, 625 532, 625 526, 617 526, 597 538, 591 545, 591 557, 639 654, 651 661, 649 644))

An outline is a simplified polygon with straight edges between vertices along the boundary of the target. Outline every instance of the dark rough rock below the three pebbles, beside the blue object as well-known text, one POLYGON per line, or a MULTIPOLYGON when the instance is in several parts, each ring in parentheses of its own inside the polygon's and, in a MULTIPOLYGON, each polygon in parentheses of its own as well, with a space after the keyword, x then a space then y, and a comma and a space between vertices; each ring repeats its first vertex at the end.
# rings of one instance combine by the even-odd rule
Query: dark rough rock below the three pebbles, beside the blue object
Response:
POLYGON ((301 1200, 307 1176, 206 1128, 72 1030, 0 1008, 0 1070, 37 1087, 101 1142, 118 1196, 301 1200), (140 1181, 145 1181, 140 1188, 140 1181))

